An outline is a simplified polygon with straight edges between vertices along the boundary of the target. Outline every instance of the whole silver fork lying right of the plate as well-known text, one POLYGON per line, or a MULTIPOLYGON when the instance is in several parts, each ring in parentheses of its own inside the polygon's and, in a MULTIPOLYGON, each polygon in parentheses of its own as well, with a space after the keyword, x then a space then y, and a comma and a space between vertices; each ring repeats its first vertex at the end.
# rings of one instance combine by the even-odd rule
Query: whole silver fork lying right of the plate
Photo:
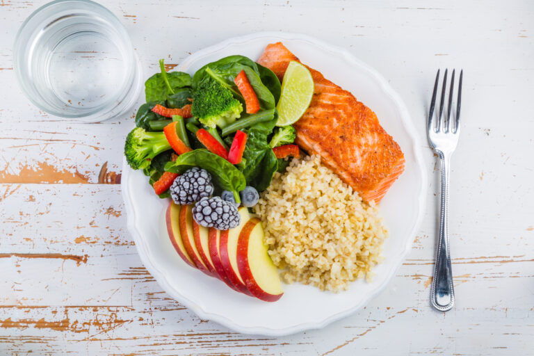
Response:
POLYGON ((460 104, 462 102, 462 76, 458 84, 458 99, 456 101, 456 120, 451 118, 451 108, 453 105, 454 74, 451 78, 451 88, 448 93, 448 106, 446 117, 444 118, 444 102, 447 86, 447 70, 445 70, 442 83, 442 99, 439 105, 439 115, 437 122, 434 115, 436 104, 436 92, 439 83, 439 70, 436 74, 432 102, 430 102, 430 112, 427 120, 427 136, 430 147, 439 156, 442 168, 442 209, 439 218, 439 238, 437 242, 436 264, 434 268, 434 280, 432 281, 432 292, 430 302, 432 306, 441 312, 450 310, 454 305, 453 271, 451 268, 451 254, 448 248, 448 176, 451 155, 458 145, 460 136, 460 104))

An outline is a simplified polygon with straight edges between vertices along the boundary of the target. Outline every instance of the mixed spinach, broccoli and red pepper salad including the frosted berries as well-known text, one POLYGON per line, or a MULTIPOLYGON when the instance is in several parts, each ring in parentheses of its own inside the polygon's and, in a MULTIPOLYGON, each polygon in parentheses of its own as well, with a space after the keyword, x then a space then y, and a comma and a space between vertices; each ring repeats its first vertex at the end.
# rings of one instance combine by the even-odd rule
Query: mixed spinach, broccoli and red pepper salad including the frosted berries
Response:
POLYGON ((275 172, 300 155, 295 129, 277 126, 280 81, 245 56, 221 58, 192 77, 159 64, 124 145, 127 162, 159 197, 196 202, 200 225, 232 228, 237 207, 256 204, 275 172))

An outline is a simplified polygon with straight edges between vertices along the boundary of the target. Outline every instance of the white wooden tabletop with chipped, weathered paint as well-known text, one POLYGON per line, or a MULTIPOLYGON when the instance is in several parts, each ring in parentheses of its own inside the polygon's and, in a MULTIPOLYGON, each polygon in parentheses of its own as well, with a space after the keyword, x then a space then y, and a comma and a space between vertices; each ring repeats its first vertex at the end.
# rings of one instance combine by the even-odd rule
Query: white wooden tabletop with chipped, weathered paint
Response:
POLYGON ((348 318, 280 338, 201 320, 147 273, 116 184, 133 109, 102 124, 60 120, 15 81, 15 33, 44 2, 0 0, 0 355, 533 355, 532 1, 104 2, 145 76, 159 58, 177 64, 254 31, 345 47, 389 79, 423 138, 435 71, 464 69, 451 181, 455 309, 428 301, 439 172, 425 145, 428 208, 391 284, 348 318))

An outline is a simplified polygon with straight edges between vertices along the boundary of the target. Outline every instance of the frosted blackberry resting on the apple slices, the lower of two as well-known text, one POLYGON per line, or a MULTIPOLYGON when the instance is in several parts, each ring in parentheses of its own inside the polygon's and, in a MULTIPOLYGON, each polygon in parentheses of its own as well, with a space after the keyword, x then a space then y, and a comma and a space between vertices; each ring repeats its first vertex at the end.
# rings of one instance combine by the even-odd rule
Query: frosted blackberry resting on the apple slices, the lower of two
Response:
POLYGON ((241 216, 231 202, 220 197, 204 197, 193 208, 193 218, 198 225, 218 230, 232 229, 241 223, 241 216))

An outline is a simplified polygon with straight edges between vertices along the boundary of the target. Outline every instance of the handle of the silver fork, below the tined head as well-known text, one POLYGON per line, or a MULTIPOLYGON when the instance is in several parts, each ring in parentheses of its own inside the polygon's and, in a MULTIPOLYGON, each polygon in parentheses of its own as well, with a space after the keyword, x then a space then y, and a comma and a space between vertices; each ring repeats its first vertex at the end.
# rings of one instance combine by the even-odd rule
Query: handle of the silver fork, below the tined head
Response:
POLYGON ((439 218, 439 238, 430 301, 435 309, 446 312, 454 305, 453 270, 448 248, 448 167, 451 154, 438 152, 438 156, 442 165, 442 209, 439 218))

